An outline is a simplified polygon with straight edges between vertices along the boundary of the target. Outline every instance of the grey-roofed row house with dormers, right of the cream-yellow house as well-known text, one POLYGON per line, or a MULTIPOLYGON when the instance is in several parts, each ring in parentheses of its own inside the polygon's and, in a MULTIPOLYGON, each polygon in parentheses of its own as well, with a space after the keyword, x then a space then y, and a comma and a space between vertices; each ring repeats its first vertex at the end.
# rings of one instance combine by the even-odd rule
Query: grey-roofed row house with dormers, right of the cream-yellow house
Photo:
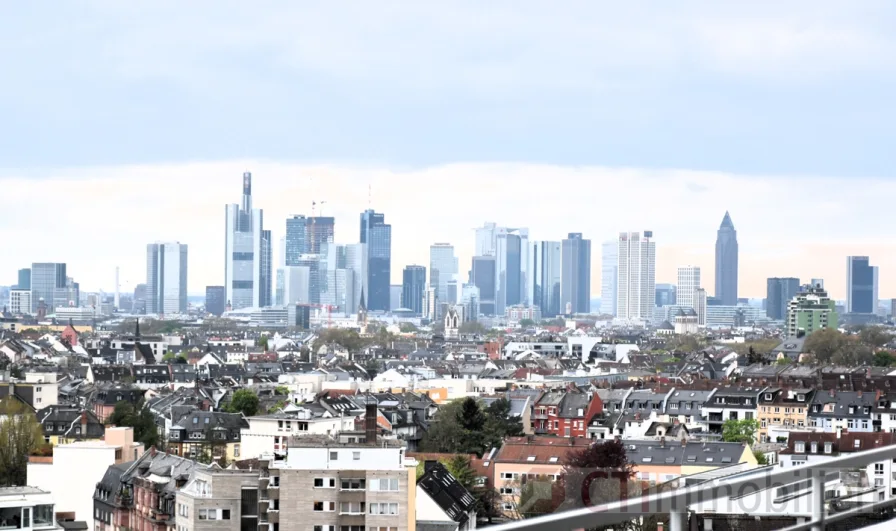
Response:
POLYGON ((871 410, 879 398, 879 392, 818 391, 809 406, 807 425, 826 432, 874 431, 871 410))

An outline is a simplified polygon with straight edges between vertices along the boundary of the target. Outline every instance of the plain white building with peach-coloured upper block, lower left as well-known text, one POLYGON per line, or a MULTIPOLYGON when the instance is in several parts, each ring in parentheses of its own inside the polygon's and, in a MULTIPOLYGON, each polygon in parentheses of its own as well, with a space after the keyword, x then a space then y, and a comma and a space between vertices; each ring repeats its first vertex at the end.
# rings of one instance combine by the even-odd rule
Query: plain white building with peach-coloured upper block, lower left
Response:
POLYGON ((104 440, 60 444, 49 457, 28 462, 28 485, 53 492, 56 511, 73 513, 75 520, 94 528, 93 491, 96 478, 113 465, 135 461, 143 455, 143 444, 134 442, 133 428, 108 428, 104 440), (60 481, 65 478, 65 481, 60 481))

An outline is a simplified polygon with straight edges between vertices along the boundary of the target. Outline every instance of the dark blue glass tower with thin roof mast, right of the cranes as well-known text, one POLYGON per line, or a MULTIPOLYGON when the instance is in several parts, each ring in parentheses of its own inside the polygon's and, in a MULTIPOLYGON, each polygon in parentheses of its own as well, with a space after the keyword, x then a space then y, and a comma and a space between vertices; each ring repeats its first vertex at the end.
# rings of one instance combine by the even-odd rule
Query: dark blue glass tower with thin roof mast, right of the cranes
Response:
POLYGON ((367 244, 367 309, 389 311, 392 225, 371 209, 361 213, 361 243, 367 244))

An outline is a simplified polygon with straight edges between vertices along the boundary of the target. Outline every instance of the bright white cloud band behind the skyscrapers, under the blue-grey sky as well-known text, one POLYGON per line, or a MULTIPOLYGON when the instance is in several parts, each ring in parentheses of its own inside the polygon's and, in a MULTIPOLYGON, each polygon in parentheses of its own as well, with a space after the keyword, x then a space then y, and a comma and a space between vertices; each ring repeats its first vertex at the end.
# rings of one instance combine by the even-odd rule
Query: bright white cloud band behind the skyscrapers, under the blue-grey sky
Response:
POLYGON ((12 279, 32 261, 66 261, 85 289, 111 289, 115 266, 133 287, 145 276, 145 245, 178 240, 190 246, 190 290, 202 292, 223 278, 224 205, 239 201, 247 169, 275 240, 286 217, 310 214, 312 201, 326 201, 322 213, 336 217, 342 243, 358 240, 358 216, 368 205, 384 212, 393 226, 395 283, 405 265, 428 265, 434 242, 456 246, 463 274, 473 228, 495 221, 529 227, 532 239, 584 233, 594 242, 595 295, 598 244, 620 231, 653 230, 658 281, 675 282, 678 266, 695 264, 711 291, 715 231, 729 210, 744 295, 764 296, 766 277, 799 276, 825 278, 842 297, 848 254, 870 255, 880 266, 882 297, 896 291, 888 229, 863 221, 888 207, 892 181, 520 163, 393 168, 235 160, 0 174, 7 258, 0 278, 12 279), (692 186, 704 191, 695 196, 692 186))

